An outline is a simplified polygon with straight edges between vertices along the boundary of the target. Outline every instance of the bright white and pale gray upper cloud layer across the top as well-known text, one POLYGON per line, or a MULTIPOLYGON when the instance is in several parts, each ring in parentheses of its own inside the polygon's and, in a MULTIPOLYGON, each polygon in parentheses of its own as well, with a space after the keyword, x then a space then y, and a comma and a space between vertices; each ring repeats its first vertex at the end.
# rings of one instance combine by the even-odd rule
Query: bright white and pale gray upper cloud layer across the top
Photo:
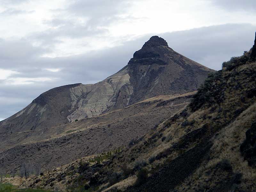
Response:
MULTIPOLYGON (((22 38, 33 45, 49 49, 47 53, 39 52, 42 56, 60 57, 113 47, 149 33, 159 34, 227 23, 256 24, 255 12, 235 8, 230 12, 230 9, 220 8, 228 7, 229 4, 250 7, 253 0, 248 3, 240 1, 239 4, 238 0, 235 3, 230 3, 230 0, 223 2, 15 0, 2 6, 0 3, 0 11, 15 10, 29 14, 8 14, 7 11, 0 17, 0 37, 22 38)), ((19 53, 12 49, 10 52, 19 53)))

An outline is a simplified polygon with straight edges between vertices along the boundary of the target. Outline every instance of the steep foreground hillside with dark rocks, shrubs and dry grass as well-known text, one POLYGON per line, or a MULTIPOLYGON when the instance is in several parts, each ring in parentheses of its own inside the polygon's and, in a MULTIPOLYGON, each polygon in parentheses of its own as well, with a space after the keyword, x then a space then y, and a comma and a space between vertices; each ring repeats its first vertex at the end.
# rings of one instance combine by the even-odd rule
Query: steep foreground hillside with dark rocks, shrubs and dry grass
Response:
POLYGON ((66 191, 256 191, 256 42, 192 102, 103 162, 77 160, 26 185, 66 191))

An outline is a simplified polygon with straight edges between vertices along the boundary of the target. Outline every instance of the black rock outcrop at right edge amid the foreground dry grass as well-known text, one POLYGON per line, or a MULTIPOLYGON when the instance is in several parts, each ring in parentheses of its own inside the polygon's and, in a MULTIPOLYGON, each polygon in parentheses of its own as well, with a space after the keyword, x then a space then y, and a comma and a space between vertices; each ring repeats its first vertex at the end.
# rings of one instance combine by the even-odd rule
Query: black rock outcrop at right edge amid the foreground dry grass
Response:
POLYGON ((250 166, 256 167, 256 122, 245 134, 246 139, 241 144, 240 151, 244 160, 247 160, 250 166))

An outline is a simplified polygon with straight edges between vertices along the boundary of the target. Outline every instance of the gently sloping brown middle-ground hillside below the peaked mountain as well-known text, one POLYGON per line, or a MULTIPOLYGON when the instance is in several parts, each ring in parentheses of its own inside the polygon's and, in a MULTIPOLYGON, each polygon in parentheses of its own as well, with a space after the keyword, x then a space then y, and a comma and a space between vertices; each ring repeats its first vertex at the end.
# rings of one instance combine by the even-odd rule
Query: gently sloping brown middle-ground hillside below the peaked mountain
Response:
POLYGON ((50 169, 126 146, 185 107, 195 93, 156 96, 96 117, 0 135, 0 173, 18 173, 22 163, 50 169))

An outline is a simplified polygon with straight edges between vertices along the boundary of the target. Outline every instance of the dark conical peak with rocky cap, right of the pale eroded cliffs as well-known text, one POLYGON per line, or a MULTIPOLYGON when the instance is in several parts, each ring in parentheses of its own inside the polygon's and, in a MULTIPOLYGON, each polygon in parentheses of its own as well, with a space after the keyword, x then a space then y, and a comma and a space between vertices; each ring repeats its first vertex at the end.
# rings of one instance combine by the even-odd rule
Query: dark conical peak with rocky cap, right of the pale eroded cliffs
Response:
POLYGON ((175 52, 167 42, 152 36, 127 65, 133 94, 129 104, 161 94, 195 91, 213 70, 175 52))

